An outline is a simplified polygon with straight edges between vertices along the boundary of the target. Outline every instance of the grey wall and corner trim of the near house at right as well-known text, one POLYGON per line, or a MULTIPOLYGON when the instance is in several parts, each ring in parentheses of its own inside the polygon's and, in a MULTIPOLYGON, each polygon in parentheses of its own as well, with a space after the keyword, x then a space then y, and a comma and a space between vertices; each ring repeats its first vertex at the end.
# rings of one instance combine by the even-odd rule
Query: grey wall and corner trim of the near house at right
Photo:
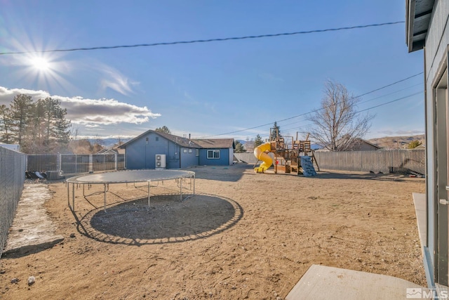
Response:
MULTIPOLYGON (((445 60, 447 53, 447 46, 449 44, 449 32, 448 32, 448 15, 449 6, 445 4, 445 1, 436 1, 434 12, 429 25, 427 33, 425 50, 424 50, 424 79, 426 86, 425 96, 425 117, 426 117, 426 145, 427 150, 427 211, 428 211, 428 223, 427 223, 427 245, 429 252, 435 252, 435 235, 436 235, 436 216, 437 216, 437 181, 436 171, 436 150, 437 150, 437 138, 434 134, 436 114, 435 114, 435 97, 434 97, 434 82, 438 76, 438 70, 441 67, 441 63, 445 60), (432 147, 434 145, 434 147, 432 147)), ((434 256, 431 256, 431 261, 435 265, 434 256)))

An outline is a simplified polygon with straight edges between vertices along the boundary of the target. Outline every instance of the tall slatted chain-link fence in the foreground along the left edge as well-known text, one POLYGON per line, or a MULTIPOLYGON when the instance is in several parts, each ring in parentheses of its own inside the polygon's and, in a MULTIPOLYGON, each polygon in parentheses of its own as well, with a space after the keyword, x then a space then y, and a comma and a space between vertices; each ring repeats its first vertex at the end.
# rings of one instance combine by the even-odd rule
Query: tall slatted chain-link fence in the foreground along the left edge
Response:
POLYGON ((0 256, 22 195, 27 155, 0 147, 0 256))

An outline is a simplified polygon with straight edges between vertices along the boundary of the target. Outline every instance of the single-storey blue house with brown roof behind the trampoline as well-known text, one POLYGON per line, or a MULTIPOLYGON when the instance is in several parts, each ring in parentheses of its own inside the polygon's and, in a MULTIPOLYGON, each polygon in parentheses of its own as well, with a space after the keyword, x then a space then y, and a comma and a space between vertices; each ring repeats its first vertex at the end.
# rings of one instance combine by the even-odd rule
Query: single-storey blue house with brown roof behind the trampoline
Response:
POLYGON ((184 169, 199 165, 229 166, 233 138, 190 139, 148 130, 120 146, 126 169, 184 169))

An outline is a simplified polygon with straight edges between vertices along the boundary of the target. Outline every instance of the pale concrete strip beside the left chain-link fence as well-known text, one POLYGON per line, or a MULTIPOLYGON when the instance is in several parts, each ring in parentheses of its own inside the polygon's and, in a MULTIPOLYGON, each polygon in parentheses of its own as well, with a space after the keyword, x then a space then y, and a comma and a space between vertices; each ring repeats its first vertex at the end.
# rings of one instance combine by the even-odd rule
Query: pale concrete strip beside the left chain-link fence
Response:
POLYGON ((1 256, 23 256, 36 253, 64 240, 56 235, 56 226, 43 204, 52 194, 46 184, 25 184, 13 225, 8 233, 6 247, 1 256))

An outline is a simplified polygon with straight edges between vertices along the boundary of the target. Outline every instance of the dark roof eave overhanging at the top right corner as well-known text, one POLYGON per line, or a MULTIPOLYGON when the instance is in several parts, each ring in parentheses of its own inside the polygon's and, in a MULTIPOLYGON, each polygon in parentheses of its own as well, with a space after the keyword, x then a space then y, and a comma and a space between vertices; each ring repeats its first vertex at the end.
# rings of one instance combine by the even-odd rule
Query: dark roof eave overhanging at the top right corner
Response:
POLYGON ((406 44, 408 52, 424 47, 435 0, 406 0, 406 44))

